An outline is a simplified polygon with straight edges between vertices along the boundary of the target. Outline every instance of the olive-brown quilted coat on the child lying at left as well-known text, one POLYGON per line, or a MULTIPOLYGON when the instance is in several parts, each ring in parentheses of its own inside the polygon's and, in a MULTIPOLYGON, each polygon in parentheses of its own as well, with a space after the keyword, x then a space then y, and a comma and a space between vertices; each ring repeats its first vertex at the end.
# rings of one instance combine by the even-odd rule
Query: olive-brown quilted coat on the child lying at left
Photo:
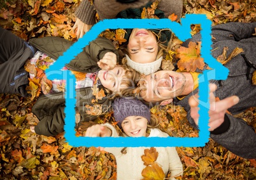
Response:
MULTIPOLYGON (((73 44, 73 42, 60 37, 31 39, 29 43, 55 60, 57 60, 57 58, 73 44)), ((96 40, 90 42, 89 46, 86 46, 82 53, 68 63, 66 67, 70 70, 79 72, 97 72, 100 70, 97 66, 97 61, 103 58, 103 56, 108 52, 115 53, 118 60, 118 52, 112 42, 104 37, 98 37, 96 40)), ((104 87, 99 86, 99 89, 104 89, 104 87)), ((92 103, 92 99, 95 99, 95 97, 92 95, 91 87, 76 89, 76 110, 81 115, 81 122, 97 118, 96 115, 88 115, 85 113, 85 110, 87 110, 85 105, 95 105, 92 103)), ((103 105, 103 112, 108 112, 111 106, 111 101, 105 97, 103 100, 98 100, 97 104, 103 105)), ((36 134, 55 136, 60 132, 63 132, 65 118, 64 107, 64 93, 49 94, 47 96, 43 95, 39 97, 38 101, 36 101, 32 108, 32 112, 40 120, 38 125, 35 127, 36 134)))

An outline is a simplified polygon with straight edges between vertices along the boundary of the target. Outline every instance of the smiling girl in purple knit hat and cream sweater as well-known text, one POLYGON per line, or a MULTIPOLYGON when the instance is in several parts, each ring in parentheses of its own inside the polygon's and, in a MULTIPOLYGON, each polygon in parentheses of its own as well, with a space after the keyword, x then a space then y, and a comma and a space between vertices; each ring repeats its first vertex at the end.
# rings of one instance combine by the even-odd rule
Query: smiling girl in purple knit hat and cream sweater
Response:
MULTIPOLYGON (((137 99, 117 98, 113 103, 114 118, 118 126, 129 137, 167 137, 168 134, 156 129, 159 123, 154 118, 148 106, 137 99)), ((85 136, 90 137, 118 137, 117 130, 110 124, 93 125, 89 127, 85 136)), ((141 172, 145 169, 141 156, 148 148, 104 148, 113 153, 117 160, 117 179, 143 179, 141 172)), ((171 172, 171 179, 181 176, 183 167, 175 148, 155 148, 158 152, 157 164, 164 171, 165 176, 171 172)))

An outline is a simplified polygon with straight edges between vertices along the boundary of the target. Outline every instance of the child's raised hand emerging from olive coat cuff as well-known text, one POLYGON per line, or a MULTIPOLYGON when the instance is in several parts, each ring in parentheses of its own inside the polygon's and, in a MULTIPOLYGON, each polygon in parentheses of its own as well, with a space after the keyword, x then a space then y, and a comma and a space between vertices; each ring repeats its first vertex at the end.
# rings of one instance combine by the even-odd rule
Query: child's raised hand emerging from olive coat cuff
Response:
POLYGON ((99 68, 103 70, 112 70, 117 65, 117 55, 112 52, 106 53, 102 60, 97 62, 99 68))

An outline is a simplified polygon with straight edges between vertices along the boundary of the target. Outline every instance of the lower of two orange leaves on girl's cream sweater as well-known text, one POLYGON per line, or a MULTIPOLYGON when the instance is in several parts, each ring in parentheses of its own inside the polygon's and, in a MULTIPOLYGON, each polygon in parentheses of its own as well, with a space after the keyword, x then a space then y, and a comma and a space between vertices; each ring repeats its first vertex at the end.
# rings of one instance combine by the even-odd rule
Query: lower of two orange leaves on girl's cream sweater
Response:
POLYGON ((164 179, 165 174, 157 163, 153 163, 152 166, 146 166, 145 169, 142 170, 141 175, 144 179, 164 179))

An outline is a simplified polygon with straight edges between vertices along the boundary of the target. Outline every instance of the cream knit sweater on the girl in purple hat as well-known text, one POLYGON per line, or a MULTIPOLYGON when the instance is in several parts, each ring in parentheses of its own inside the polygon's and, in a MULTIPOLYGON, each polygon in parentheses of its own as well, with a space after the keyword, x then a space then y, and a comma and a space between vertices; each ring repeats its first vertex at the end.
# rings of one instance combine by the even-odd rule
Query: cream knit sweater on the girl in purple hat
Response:
MULTIPOLYGON (((111 137, 118 137, 117 130, 111 124, 104 124, 106 127, 111 129, 111 137)), ((124 134, 125 136, 125 134, 124 134)), ((160 131, 159 129, 151 129, 150 137, 167 137, 168 134, 160 131)), ((145 169, 141 156, 144 155, 144 150, 150 149, 149 147, 139 147, 125 149, 126 153, 122 153, 123 148, 104 148, 105 151, 115 155, 117 161, 117 179, 143 179, 141 172, 145 169), (127 173, 129 172, 129 173, 127 173)), ((183 166, 180 161, 180 157, 174 147, 157 147, 158 157, 157 164, 162 167, 164 174, 171 172, 170 179, 174 179, 176 176, 181 176, 183 172, 183 166)))

